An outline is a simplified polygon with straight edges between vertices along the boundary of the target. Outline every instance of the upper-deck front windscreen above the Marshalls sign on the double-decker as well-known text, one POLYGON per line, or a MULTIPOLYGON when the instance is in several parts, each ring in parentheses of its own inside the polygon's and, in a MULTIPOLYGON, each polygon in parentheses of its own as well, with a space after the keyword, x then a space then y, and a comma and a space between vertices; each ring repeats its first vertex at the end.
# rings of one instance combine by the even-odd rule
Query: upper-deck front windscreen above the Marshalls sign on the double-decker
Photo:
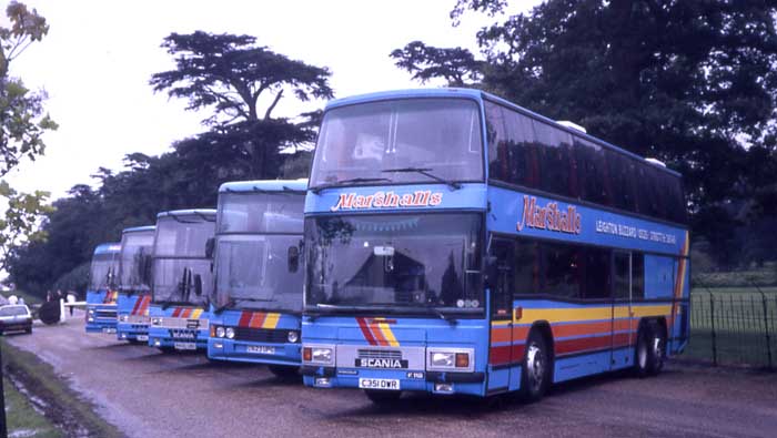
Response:
POLYGON ((483 181, 477 104, 404 99, 331 110, 319 134, 310 185, 435 182, 407 169, 448 181, 483 181), (397 169, 405 171, 390 171, 397 169))

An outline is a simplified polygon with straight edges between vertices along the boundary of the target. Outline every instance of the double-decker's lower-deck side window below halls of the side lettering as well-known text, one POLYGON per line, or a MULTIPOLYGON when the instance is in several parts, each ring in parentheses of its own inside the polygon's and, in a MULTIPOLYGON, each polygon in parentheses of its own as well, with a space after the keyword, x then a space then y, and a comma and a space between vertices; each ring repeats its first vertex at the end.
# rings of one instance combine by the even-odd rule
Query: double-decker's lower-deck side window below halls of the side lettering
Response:
POLYGON ((543 244, 545 292, 559 298, 579 296, 579 252, 572 245, 543 244))

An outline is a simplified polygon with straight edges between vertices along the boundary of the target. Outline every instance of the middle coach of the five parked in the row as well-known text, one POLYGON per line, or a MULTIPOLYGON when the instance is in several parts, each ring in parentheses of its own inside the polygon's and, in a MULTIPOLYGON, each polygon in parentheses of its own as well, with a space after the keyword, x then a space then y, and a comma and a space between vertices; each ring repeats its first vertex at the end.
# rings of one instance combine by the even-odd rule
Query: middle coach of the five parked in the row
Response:
POLYGON ((214 232, 215 210, 157 215, 149 346, 163 352, 208 348, 213 288, 208 242, 214 232))

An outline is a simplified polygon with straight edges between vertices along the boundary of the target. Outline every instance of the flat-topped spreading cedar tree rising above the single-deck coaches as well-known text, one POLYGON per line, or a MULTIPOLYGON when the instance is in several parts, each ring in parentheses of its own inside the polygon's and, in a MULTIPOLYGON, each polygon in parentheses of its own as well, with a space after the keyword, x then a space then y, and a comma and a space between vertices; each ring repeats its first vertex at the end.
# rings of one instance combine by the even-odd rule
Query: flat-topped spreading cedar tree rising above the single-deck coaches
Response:
POLYGON ((189 110, 212 111, 202 121, 211 131, 186 140, 188 146, 229 150, 249 177, 276 177, 280 151, 310 142, 313 131, 273 111, 286 92, 301 101, 332 98, 331 73, 255 42, 250 35, 172 33, 162 48, 175 57, 176 69, 153 74, 151 85, 186 99, 189 110))

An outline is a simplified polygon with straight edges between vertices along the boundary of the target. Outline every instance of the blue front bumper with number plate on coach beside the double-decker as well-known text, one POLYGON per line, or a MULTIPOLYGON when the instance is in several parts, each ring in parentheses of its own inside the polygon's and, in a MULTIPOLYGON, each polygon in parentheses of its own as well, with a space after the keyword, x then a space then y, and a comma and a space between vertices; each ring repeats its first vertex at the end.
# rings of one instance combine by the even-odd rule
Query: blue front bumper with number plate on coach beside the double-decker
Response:
POLYGON ((211 337, 208 339, 208 357, 249 364, 300 366, 300 343, 252 343, 211 337), (253 349, 253 352, 250 352, 253 349))

